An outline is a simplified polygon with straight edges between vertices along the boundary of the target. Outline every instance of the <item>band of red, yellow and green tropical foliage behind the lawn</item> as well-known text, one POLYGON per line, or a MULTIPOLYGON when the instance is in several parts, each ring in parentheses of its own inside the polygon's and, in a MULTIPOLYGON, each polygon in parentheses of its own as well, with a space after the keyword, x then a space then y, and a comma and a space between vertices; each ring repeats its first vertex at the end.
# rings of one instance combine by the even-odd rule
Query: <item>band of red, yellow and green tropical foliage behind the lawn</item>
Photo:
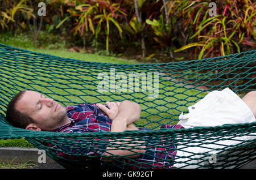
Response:
MULTIPOLYGON (((36 14, 39 2, 1 1, 1 31, 22 32, 31 25, 31 31, 40 31, 35 27, 35 20, 41 18, 36 14)), ((201 59, 255 49, 256 2, 214 1, 214 15, 209 12, 214 8, 210 2, 47 0, 41 25, 48 32, 65 31, 80 37, 84 48, 104 42, 107 52, 110 44, 113 49, 119 42, 135 41, 141 46, 142 57, 150 46, 166 50, 172 59, 177 52, 201 59)))

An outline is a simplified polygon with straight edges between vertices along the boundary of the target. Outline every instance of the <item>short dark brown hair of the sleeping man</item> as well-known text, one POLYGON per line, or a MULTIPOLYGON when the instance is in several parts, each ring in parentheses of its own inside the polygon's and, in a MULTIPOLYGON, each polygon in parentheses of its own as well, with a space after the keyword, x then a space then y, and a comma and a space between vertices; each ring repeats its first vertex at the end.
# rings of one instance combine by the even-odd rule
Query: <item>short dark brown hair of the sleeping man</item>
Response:
POLYGON ((6 120, 14 127, 26 128, 30 123, 34 123, 34 119, 29 117, 26 113, 19 112, 15 105, 22 98, 25 91, 20 91, 9 102, 6 109, 6 120))

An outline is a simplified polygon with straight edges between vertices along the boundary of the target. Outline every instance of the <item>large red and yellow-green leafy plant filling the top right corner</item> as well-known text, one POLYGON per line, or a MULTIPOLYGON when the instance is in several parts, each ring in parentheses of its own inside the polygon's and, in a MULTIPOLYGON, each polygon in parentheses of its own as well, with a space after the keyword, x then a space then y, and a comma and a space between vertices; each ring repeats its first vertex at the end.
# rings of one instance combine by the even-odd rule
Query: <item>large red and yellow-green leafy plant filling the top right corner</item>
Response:
POLYGON ((198 58, 214 57, 232 53, 240 53, 241 46, 255 45, 255 2, 251 1, 223 1, 216 2, 218 11, 216 16, 208 15, 208 3, 200 2, 201 7, 195 2, 189 5, 192 27, 195 31, 189 40, 191 42, 175 52, 195 48, 200 51, 198 58), (254 29, 254 30, 253 30, 254 29), (246 37, 245 37, 246 36, 246 37))

